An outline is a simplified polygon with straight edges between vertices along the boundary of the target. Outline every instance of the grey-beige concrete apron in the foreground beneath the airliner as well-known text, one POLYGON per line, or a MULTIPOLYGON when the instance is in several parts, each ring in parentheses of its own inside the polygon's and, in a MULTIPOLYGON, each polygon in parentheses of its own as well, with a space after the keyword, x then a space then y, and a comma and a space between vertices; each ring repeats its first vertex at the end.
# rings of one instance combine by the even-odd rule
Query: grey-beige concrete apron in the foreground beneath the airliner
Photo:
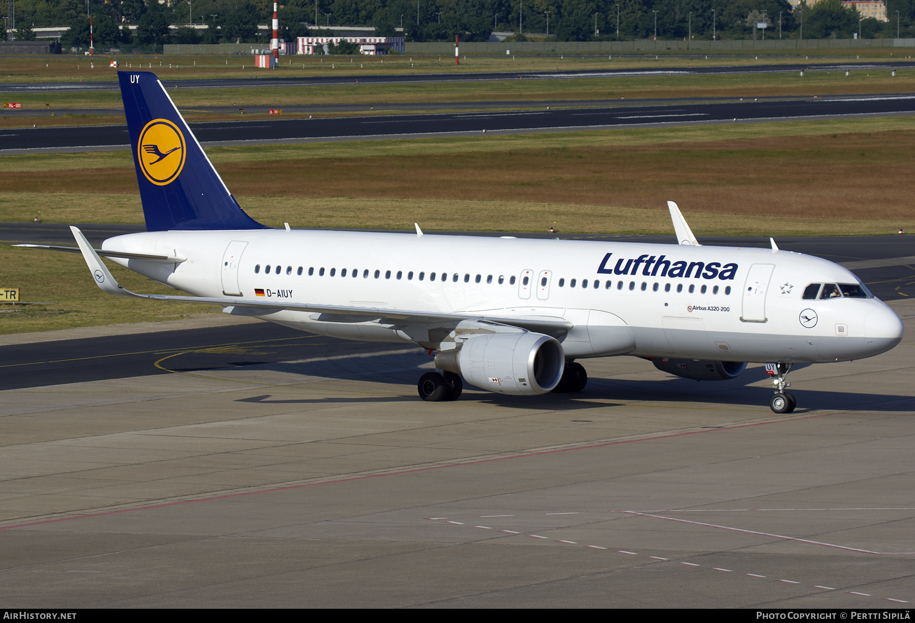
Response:
POLYGON ((423 351, 313 339, 0 392, 5 606, 915 599, 911 338, 793 371, 790 415, 759 367, 696 383, 628 357, 587 361, 577 395, 423 403, 423 351))

